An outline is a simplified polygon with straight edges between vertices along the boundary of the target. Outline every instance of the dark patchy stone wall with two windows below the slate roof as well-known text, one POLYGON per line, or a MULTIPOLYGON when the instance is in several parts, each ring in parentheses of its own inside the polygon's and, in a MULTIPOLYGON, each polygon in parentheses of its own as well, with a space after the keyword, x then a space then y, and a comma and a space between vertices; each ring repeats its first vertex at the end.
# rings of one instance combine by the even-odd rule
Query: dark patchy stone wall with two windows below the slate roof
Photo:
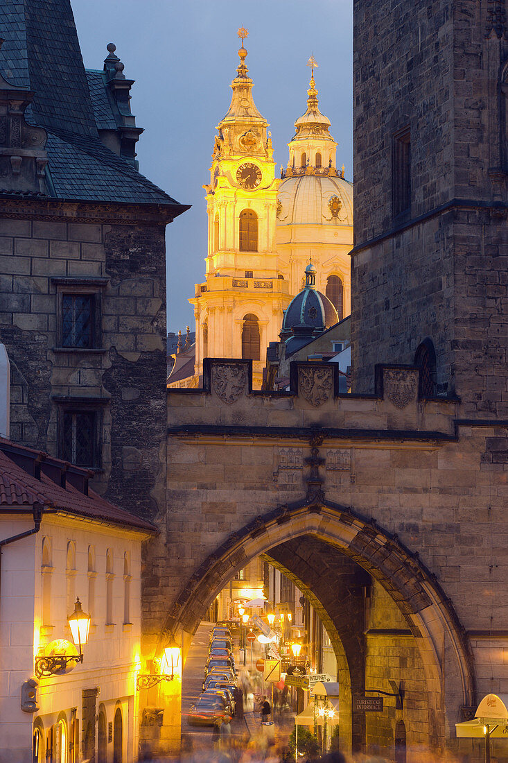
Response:
POLYGON ((68 401, 100 410, 92 487, 153 517, 164 508, 165 227, 132 205, 7 202, 0 217, 0 341, 11 360, 11 439, 60 455, 68 401), (92 349, 63 349, 58 291, 92 288, 92 349), (127 501, 127 503, 126 503, 127 501))

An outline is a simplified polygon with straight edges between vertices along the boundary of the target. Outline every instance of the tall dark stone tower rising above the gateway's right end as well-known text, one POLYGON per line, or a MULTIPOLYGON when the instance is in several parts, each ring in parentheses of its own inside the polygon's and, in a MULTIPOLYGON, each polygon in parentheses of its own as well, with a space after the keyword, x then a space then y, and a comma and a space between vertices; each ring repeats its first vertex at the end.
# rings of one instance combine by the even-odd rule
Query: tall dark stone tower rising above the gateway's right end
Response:
POLYGON ((353 389, 416 362, 506 417, 505 4, 355 0, 354 46, 353 389))

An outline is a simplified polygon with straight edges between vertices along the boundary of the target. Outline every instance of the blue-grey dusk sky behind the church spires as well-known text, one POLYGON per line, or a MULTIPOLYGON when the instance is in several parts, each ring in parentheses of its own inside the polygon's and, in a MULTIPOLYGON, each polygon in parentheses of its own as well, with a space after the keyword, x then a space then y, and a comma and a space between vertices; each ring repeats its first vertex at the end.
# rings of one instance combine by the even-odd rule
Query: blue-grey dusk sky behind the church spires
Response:
POLYGON ((215 127, 230 105, 239 63, 237 31, 249 31, 246 65, 270 123, 277 171, 288 162, 294 121, 307 108, 313 54, 320 110, 339 143, 337 165, 352 179, 352 0, 72 0, 85 66, 102 69, 114 42, 131 108, 145 128, 140 172, 192 208, 168 227, 168 326, 194 330, 187 298, 204 280, 207 214, 202 185, 215 127))

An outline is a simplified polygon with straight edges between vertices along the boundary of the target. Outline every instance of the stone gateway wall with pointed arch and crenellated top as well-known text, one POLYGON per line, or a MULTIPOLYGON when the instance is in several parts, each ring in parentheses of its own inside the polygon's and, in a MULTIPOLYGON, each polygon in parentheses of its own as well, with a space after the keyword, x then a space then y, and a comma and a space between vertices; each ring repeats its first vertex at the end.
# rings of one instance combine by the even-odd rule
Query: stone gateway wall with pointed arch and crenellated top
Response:
MULTIPOLYGON (((371 629, 404 623, 410 632, 399 634, 396 646, 387 634, 371 633, 365 660, 368 677, 382 679, 387 691, 387 678, 411 673, 402 716, 408 742, 439 745, 448 737, 455 743, 450 729, 461 706, 472 706, 489 684, 484 659, 473 659, 474 634, 483 634, 487 649, 507 627, 506 430, 461 420, 458 401, 418 398, 417 374, 400 366, 377 369, 376 395, 339 395, 332 366, 300 363, 291 368, 290 392, 264 393, 249 391, 248 362, 214 361, 203 390, 169 392, 169 510, 161 535, 150 542, 151 583, 144 591, 153 649, 175 628, 187 644, 211 600, 251 554, 270 556, 282 543, 317 536, 387 592, 377 611, 389 611, 388 620, 373 620, 371 629), (345 523, 339 535, 336 517, 345 523), (382 550, 380 533, 391 537, 382 550), (414 578, 402 573, 400 543, 414 578), (497 567, 488 562, 491 553, 497 567), (416 581, 423 579, 420 588, 416 581), (437 601, 452 610, 431 614, 437 601)), ((317 562, 314 555, 319 571, 317 562)), ((306 577, 297 555, 290 571, 306 577)), ((333 589, 331 578, 324 576, 333 589)), ((324 589, 320 595, 324 601, 324 589)), ((324 609, 326 622, 333 607, 324 609)), ((502 663, 492 669, 499 691, 507 691, 502 663)), ((397 713, 388 718, 386 735, 397 713)), ((368 716, 367 723, 375 720, 368 716)), ((374 726, 368 729, 369 737, 374 726)))

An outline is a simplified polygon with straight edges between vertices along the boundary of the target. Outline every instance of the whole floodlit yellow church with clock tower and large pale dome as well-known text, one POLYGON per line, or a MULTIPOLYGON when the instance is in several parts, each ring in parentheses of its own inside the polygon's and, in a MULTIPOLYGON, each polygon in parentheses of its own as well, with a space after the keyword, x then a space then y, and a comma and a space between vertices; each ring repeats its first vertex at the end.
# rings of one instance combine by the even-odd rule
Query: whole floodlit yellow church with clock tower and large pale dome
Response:
POLYGON ((333 301, 339 319, 350 312, 352 183, 343 167, 336 169, 337 144, 318 106, 317 64, 309 60, 307 111, 294 123, 288 165, 276 173, 272 134, 252 98, 246 31, 239 35, 233 96, 217 127, 210 182, 204 185, 205 278, 189 300, 196 321, 194 375, 170 375, 170 387, 201 386, 203 360, 214 357, 252 359, 252 381, 259 388, 265 349, 278 340, 309 259, 317 267, 317 288, 333 301))

